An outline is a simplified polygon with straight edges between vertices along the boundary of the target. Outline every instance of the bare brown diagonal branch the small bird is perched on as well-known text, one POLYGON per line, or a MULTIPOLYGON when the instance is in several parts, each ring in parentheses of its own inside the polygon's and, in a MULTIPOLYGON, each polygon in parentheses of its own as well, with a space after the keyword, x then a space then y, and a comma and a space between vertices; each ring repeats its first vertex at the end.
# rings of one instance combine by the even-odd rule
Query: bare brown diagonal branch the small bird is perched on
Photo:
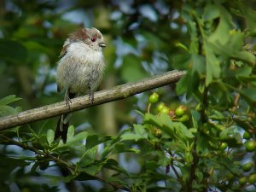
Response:
POLYGON ((93 104, 90 103, 88 96, 79 96, 72 100, 70 108, 66 102, 56 102, 40 108, 33 108, 15 115, 9 115, 0 119, 0 131, 8 128, 24 125, 33 121, 49 119, 62 113, 70 113, 84 108, 100 105, 102 103, 121 100, 147 90, 177 82, 185 72, 173 70, 161 75, 155 75, 148 79, 143 79, 135 83, 122 84, 110 90, 101 90, 95 93, 93 104))

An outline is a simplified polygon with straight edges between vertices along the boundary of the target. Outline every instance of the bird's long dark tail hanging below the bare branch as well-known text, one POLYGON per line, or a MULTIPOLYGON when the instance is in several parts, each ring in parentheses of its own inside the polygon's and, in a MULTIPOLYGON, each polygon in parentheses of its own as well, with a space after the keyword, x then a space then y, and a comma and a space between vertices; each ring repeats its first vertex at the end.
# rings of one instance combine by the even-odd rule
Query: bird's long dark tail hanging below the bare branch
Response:
POLYGON ((63 143, 67 143, 67 130, 68 130, 70 116, 71 116, 70 113, 65 113, 61 115, 55 130, 55 140, 58 138, 61 138, 63 143))

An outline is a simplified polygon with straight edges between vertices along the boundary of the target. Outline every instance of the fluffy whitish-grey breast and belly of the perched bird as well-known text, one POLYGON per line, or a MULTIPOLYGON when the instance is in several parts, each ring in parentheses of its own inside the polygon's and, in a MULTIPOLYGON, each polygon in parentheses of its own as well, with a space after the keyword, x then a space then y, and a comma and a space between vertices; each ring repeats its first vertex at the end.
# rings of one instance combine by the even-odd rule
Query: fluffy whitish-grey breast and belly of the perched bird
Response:
POLYGON ((82 42, 69 44, 67 53, 58 62, 57 84, 61 90, 86 94, 96 90, 104 71, 102 51, 90 49, 82 42))

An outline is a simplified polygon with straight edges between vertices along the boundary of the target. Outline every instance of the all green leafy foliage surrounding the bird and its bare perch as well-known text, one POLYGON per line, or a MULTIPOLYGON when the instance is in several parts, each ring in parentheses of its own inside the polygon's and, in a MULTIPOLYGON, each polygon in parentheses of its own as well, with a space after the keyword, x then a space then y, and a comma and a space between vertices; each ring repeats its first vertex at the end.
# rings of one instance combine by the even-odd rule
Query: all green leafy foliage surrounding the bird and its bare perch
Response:
POLYGON ((74 113, 67 144, 53 141, 56 119, 2 132, 3 191, 255 190, 255 1, 0 3, 1 116, 63 99, 56 62, 80 27, 106 38, 101 90, 187 71, 157 103, 149 91, 74 113))

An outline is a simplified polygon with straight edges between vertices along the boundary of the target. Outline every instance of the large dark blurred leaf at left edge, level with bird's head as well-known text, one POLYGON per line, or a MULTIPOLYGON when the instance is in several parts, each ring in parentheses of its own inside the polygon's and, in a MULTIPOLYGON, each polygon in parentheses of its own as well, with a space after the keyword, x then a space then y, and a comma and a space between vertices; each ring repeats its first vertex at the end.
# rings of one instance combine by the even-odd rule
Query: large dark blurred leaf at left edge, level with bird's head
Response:
POLYGON ((22 44, 12 40, 0 40, 0 58, 22 64, 26 61, 27 50, 22 44))

